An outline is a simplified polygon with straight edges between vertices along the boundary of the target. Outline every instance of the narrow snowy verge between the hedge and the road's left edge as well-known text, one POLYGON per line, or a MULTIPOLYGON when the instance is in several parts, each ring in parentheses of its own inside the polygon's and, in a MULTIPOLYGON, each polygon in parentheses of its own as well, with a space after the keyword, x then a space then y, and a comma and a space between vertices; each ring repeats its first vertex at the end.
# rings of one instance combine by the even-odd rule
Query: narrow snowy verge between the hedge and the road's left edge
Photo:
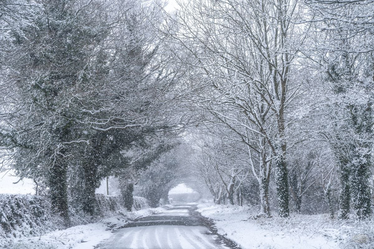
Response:
POLYGON ((148 208, 129 212, 100 222, 77 225, 65 230, 56 230, 42 236, 22 238, 14 242, 11 249, 93 249, 102 240, 108 239, 112 231, 131 220, 157 214, 164 208, 148 208))

